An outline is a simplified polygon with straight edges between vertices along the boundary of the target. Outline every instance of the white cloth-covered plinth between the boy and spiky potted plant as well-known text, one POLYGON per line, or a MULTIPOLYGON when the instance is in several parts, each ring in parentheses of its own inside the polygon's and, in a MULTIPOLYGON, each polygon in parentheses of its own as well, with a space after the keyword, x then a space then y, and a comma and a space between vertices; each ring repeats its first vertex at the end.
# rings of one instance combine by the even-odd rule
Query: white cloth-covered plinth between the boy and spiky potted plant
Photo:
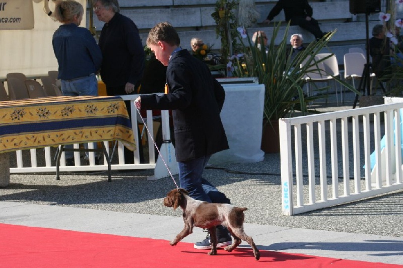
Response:
POLYGON ((225 102, 220 115, 230 149, 214 154, 209 164, 263 161, 264 152, 260 144, 264 85, 250 83, 250 80, 218 79, 225 90, 225 102))

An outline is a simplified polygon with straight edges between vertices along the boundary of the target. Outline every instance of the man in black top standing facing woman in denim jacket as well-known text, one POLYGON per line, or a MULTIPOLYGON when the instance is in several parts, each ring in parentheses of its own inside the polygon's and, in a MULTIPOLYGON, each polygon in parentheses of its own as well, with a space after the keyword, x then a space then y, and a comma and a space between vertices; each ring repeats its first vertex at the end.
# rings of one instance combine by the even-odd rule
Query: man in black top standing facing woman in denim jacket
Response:
MULTIPOLYGON (((117 0, 96 0, 94 12, 105 22, 98 45, 103 56, 100 75, 106 93, 108 96, 136 94, 145 66, 145 52, 136 24, 119 13, 117 0)), ((125 103, 131 115, 130 102, 125 103)), ((138 149, 142 158, 142 146, 138 149)), ((126 164, 134 163, 133 153, 126 148, 124 160, 126 164)))

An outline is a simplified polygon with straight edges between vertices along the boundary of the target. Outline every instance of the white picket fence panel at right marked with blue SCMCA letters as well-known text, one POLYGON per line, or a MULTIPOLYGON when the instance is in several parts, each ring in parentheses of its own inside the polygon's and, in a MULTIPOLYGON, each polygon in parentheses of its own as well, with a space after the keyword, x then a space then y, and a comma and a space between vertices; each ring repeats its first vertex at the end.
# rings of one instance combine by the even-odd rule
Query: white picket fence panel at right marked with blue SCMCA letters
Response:
POLYGON ((402 108, 394 103, 280 119, 283 214, 403 189, 402 108))

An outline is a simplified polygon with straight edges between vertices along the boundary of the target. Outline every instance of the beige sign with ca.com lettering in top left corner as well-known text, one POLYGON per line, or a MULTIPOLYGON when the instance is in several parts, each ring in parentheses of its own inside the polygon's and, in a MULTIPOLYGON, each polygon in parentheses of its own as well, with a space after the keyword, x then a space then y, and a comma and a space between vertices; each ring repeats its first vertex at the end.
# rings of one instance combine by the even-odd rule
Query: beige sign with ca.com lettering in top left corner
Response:
POLYGON ((30 0, 0 0, 0 30, 31 30, 34 9, 30 0))

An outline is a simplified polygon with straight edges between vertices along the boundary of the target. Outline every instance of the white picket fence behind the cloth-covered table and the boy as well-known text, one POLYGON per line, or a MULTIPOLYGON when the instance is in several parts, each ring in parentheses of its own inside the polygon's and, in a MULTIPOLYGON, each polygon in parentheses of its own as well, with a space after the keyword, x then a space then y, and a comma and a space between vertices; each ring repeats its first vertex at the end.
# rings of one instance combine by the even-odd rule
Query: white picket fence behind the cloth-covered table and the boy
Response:
MULTIPOLYGON (((131 125, 133 126, 133 134, 135 136, 136 145, 139 145, 138 137, 138 121, 142 123, 141 118, 137 114, 137 109, 134 106, 134 100, 139 95, 127 95, 121 96, 123 100, 131 101, 131 125)), ((161 155, 158 156, 157 161, 155 161, 155 151, 154 144, 151 140, 150 133, 154 133, 153 126, 153 114, 152 111, 147 111, 147 119, 145 118, 147 128, 149 131, 145 131, 144 135, 147 135, 147 147, 149 153, 149 160, 147 163, 140 163, 140 153, 139 150, 135 151, 134 154, 134 164, 124 163, 123 154, 123 144, 120 142, 104 142, 106 151, 109 157, 112 159, 114 155, 118 161, 114 161, 111 164, 112 170, 124 170, 124 169, 154 169, 154 176, 150 176, 149 179, 160 179, 169 176, 168 169, 166 168, 162 159, 166 162, 169 170, 172 174, 178 173, 178 165, 175 158, 175 149, 171 142, 163 143, 160 149, 161 155), (113 154, 113 155, 112 155, 113 154), (117 163, 116 163, 117 162, 117 163)), ((169 115, 168 111, 161 111, 161 125, 162 125, 162 135, 164 141, 170 141, 170 131, 169 131, 169 115)), ((79 148, 79 144, 75 144, 74 148, 79 148)), ((93 143, 89 144, 89 149, 93 149, 93 143)), ((16 167, 10 167, 10 173, 51 173, 56 172, 55 166, 55 154, 56 149, 51 147, 31 149, 30 151, 30 161, 27 161, 27 156, 25 152, 19 150, 16 152, 16 167), (41 163, 41 165, 38 165, 41 163), (43 163, 43 164, 42 164, 43 163)), ((10 153, 12 154, 12 153, 10 153)), ((90 152, 90 164, 81 165, 80 152, 74 153, 75 166, 66 166, 64 152, 60 158, 60 171, 107 171, 108 166, 104 156, 104 164, 95 165, 95 153, 90 152)), ((147 160, 147 159, 146 159, 147 160)))

